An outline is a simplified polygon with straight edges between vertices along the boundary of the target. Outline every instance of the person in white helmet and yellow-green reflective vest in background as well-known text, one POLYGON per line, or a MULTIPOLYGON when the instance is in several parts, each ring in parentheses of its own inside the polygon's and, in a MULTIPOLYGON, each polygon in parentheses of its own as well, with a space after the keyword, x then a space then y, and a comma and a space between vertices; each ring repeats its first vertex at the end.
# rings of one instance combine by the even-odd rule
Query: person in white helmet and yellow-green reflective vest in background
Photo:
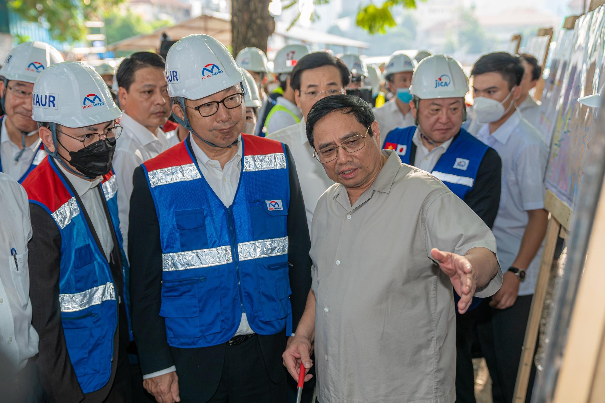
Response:
POLYGON ((275 106, 271 109, 264 121, 263 135, 269 135, 284 127, 299 123, 302 112, 295 103, 294 89, 290 85, 290 75, 298 60, 309 53, 304 45, 287 45, 275 55, 275 74, 283 90, 282 96, 277 98, 275 106))

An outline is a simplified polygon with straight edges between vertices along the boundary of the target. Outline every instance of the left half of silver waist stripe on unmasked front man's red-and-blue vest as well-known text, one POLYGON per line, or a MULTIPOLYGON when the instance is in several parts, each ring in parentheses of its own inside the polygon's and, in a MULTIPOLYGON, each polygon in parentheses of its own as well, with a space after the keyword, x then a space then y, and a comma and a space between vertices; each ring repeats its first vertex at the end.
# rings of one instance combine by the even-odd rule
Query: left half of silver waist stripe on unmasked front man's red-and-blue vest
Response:
POLYGON ((231 247, 228 246, 188 252, 165 253, 162 255, 162 270, 195 269, 224 265, 231 262, 233 262, 231 247))

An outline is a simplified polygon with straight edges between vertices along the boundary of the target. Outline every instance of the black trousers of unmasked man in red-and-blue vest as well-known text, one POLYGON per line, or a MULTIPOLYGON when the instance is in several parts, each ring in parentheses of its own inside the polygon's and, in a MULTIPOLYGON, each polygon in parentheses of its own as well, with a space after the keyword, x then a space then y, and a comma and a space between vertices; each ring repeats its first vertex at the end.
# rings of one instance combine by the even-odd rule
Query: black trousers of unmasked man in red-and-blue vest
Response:
MULTIPOLYGON (((225 348, 223 373, 218 382, 217 392, 208 401, 208 403, 251 402, 286 402, 286 376, 281 378, 278 384, 271 381, 257 335, 253 335, 238 346, 225 348)), ((194 402, 184 402, 181 399, 181 403, 194 402)))

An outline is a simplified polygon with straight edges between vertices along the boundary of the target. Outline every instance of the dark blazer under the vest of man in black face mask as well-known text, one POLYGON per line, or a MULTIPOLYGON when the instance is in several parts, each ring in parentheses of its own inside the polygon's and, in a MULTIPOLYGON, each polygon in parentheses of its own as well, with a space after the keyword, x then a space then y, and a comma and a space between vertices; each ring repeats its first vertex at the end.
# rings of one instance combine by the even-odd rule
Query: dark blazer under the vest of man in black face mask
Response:
MULTIPOLYGON (((70 182, 65 178, 68 184, 70 182)), ((70 184, 71 185, 71 184, 70 184)), ((91 189, 91 192, 97 189, 91 189)), ((74 190, 72 189, 72 192, 74 190)), ((93 233, 93 237, 100 247, 94 227, 86 210, 84 210, 79 196, 76 196, 80 203, 81 213, 84 214, 88 227, 93 233)), ((105 198, 101 198, 105 205, 105 198)), ((105 205, 106 206, 106 205, 105 205)), ((76 373, 71 366, 70 357, 67 352, 67 344, 63 335, 63 325, 61 323, 61 312, 59 307, 59 272, 61 259, 61 236, 59 228, 53 218, 37 204, 30 203, 31 228, 33 236, 28 244, 28 265, 30 267, 30 298, 32 308, 31 324, 40 336, 39 353, 36 355, 35 362, 38 364, 39 376, 42 387, 48 394, 51 402, 80 402, 86 403, 103 402, 108 399, 111 390, 112 396, 130 395, 128 382, 116 381, 116 371, 118 363, 128 365, 126 360, 126 346, 128 346, 128 321, 126 319, 126 310, 123 303, 119 304, 119 323, 116 335, 114 336, 114 359, 111 366, 111 377, 107 384, 99 390, 82 393, 80 384, 77 381, 76 373), (115 384, 115 385, 114 385, 115 384), (116 388, 120 390, 116 390, 116 388)), ((109 212, 106 210, 106 217, 109 220, 109 212)), ((111 274, 114 278, 114 285, 120 300, 124 301, 122 295, 122 257, 117 247, 117 238, 113 230, 113 225, 109 223, 109 228, 114 240, 114 248, 110 255, 111 274)), ((121 371, 120 371, 121 372, 121 371)), ((128 372, 126 372, 128 376, 128 372)), ((112 401, 121 402, 122 398, 112 401)), ((123 400, 126 401, 126 400, 123 400)))

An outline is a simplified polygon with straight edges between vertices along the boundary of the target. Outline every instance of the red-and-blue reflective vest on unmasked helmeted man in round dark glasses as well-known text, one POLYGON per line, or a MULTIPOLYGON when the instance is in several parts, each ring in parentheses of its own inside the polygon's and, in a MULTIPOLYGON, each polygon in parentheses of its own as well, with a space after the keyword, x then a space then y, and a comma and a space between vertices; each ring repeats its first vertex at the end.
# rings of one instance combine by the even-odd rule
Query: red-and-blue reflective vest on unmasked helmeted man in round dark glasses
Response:
POLYGON ((224 343, 244 312, 257 334, 291 332, 284 145, 245 134, 242 140, 230 207, 204 179, 189 139, 142 165, 160 224, 160 316, 171 346, 224 343))

